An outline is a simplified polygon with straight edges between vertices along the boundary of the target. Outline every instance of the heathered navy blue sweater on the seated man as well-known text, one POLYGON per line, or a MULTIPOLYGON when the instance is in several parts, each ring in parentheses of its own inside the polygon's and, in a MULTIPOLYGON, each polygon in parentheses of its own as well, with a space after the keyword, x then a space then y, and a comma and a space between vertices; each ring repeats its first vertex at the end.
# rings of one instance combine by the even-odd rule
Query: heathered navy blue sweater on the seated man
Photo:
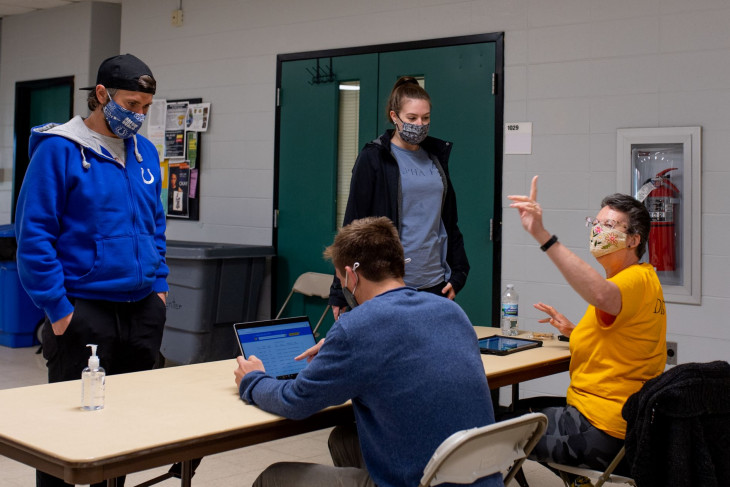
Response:
MULTIPOLYGON (((240 394, 292 419, 352 399, 363 458, 379 487, 418 485, 444 439, 494 422, 466 314, 453 301, 412 288, 388 291, 342 315, 296 379, 249 373, 240 394)), ((475 485, 503 484, 496 474, 475 485)))

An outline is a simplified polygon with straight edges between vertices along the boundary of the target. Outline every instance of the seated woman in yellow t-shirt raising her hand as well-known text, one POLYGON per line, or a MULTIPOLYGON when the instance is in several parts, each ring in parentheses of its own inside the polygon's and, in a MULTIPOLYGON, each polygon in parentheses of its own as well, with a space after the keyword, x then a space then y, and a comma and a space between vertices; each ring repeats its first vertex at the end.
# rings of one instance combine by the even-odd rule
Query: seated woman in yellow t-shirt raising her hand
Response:
POLYGON ((541 323, 570 337, 571 361, 565 405, 542 409, 548 429, 530 457, 604 469, 623 445, 626 399, 661 374, 667 358, 661 284, 654 268, 639 262, 649 237, 649 212, 631 196, 616 193, 587 219, 589 248, 604 278, 543 227, 537 176, 530 196, 508 198, 525 230, 589 304, 577 325, 552 306, 535 305, 549 315, 541 323))

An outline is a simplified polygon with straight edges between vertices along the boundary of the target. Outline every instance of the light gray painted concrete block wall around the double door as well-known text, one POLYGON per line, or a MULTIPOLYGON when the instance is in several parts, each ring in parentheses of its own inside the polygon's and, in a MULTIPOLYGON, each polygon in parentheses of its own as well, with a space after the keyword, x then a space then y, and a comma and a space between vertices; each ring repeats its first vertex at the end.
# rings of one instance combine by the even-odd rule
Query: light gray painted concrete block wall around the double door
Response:
MULTIPOLYGON (((277 54, 505 32, 504 119, 533 122, 534 135, 531 155, 505 156, 503 195, 525 193, 540 174, 547 227, 589 262, 582 220, 616 190, 616 129, 702 126, 702 304, 669 304, 668 338, 679 343, 680 363, 728 359, 726 1, 186 0, 183 26, 173 27, 178 4, 123 0, 120 34, 120 51, 152 67, 159 97, 212 103, 202 140, 201 219, 171 221, 169 238, 271 242, 277 54)), ((28 38, 19 30, 23 17, 4 21, 0 80, 22 69, 21 60, 8 59, 7 45, 28 38)), ((25 30, 37 28, 29 19, 25 30)), ((27 49, 44 42, 31 35, 27 49)), ((55 70, 47 77, 60 75, 55 70)), ((11 145, 7 85, 0 84, 3 156, 11 145)), ((8 215, 5 200, 0 194, 0 221, 8 215)), ((503 201, 502 279, 520 292, 525 326, 544 326, 531 307, 538 301, 577 321, 585 303, 503 201)), ((523 391, 560 394, 566 385, 562 375, 523 391)))

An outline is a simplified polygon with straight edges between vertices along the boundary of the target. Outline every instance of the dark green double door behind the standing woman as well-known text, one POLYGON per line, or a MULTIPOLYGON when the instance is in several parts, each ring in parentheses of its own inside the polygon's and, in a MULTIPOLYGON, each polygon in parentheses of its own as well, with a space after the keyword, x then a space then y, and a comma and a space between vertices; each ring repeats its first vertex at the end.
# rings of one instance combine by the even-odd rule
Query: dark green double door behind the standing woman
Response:
MULTIPOLYGON (((338 170, 343 130, 349 127, 356 134, 360 149, 392 128, 385 117, 388 95, 400 76, 411 75, 422 80, 431 96, 430 135, 454 144, 449 168, 471 264, 466 287, 456 301, 472 323, 491 325, 495 57, 495 43, 483 42, 320 58, 319 63, 315 59, 281 62, 275 194, 277 309, 301 273, 333 273, 322 252, 332 243, 338 223, 342 224, 337 212, 338 178, 340 187, 349 188, 350 169, 340 166, 338 170), (359 103, 348 120, 341 117, 343 85, 359 87, 359 103)), ((344 205, 346 194, 340 193, 339 200, 344 205)), ((323 309, 321 299, 295 295, 282 316, 306 314, 316 323, 323 309)), ((330 314, 322 329, 328 330, 332 322, 330 314)))

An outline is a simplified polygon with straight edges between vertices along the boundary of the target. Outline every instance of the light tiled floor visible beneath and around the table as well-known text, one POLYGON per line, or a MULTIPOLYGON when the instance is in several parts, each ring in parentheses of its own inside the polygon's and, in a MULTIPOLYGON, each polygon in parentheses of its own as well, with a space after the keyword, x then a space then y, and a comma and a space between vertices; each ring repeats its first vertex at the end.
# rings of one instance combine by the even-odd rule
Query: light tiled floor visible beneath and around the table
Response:
MULTIPOLYGON (((36 348, 0 346, 0 389, 43 384, 46 368, 36 348)), ((267 466, 280 461, 306 461, 331 465, 327 450, 329 430, 321 430, 260 445, 241 448, 203 459, 193 478, 196 487, 248 486, 267 466)), ((168 467, 147 470, 127 477, 126 485, 145 482, 167 472, 168 467)), ((525 474, 531 487, 560 487, 563 483, 550 471, 535 462, 526 462, 525 474)), ((35 471, 21 463, 0 456, 0 487, 35 485, 35 471)), ((177 479, 157 484, 160 487, 180 485, 177 479)), ((516 486, 515 482, 509 487, 516 486)))

